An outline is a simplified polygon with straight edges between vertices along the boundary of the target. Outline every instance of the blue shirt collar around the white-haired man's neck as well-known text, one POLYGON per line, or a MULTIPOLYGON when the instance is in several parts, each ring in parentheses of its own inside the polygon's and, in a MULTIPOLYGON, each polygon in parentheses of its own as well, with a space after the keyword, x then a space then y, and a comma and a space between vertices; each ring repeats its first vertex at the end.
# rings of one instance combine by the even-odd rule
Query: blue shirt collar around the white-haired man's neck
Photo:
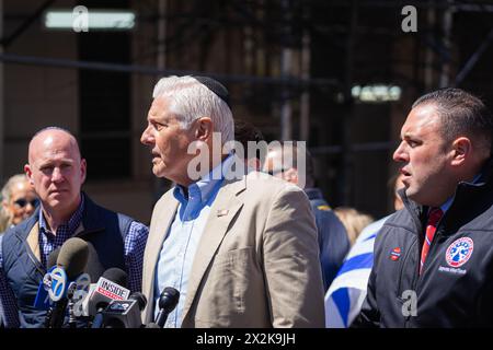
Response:
MULTIPOLYGON (((221 162, 221 164, 213 168, 207 175, 188 185, 188 196, 200 194, 202 203, 206 203, 210 199, 210 196, 215 192, 215 189, 217 189, 217 186, 222 183, 225 174, 231 167, 231 163, 233 162, 233 155, 232 153, 230 153, 221 162)), ((176 185, 176 187, 173 189, 173 195, 180 202, 187 201, 188 196, 185 196, 185 189, 181 185, 176 185)))

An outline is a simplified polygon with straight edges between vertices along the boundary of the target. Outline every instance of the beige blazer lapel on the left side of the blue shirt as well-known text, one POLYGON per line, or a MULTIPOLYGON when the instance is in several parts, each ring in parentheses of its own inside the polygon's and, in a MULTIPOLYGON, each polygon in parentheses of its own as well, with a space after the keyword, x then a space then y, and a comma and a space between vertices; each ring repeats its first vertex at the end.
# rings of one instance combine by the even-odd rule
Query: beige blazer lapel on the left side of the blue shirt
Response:
MULTIPOLYGON (((149 236, 144 254, 142 292, 148 295, 148 305, 153 305, 154 271, 161 253, 162 243, 176 213, 179 201, 173 196, 173 190, 168 191, 156 205, 152 214, 149 236)), ((145 322, 152 322, 152 310, 146 306, 144 311, 145 322)))

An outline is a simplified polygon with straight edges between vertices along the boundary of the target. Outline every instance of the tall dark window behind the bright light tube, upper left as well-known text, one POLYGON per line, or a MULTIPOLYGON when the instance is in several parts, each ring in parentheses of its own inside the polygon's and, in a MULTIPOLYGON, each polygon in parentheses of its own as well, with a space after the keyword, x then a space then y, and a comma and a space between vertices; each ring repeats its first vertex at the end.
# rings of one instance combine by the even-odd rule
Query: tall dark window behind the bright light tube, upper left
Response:
MULTIPOLYGON (((126 1, 85 1, 91 9, 126 9, 126 1)), ((78 34, 79 59, 106 63, 130 63, 128 32, 78 34)), ((130 75, 104 70, 79 70, 79 116, 82 155, 88 179, 129 178, 130 75)))

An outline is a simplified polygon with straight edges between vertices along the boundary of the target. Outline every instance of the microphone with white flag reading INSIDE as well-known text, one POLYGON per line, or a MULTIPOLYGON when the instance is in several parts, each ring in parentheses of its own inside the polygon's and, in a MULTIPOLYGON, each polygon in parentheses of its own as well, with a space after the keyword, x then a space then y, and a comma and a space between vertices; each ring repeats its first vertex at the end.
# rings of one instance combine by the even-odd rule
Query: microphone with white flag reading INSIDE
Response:
POLYGON ((99 279, 94 291, 88 299, 88 315, 94 316, 92 328, 103 325, 103 311, 113 300, 125 300, 130 294, 127 287, 128 276, 118 268, 110 268, 99 279))

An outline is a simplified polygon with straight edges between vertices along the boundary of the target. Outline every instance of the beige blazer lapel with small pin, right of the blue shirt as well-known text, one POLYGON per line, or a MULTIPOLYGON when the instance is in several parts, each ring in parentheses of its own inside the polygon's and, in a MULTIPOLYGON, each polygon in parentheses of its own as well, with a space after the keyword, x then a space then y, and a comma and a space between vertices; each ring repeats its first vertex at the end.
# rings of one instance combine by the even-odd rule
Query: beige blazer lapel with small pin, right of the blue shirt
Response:
POLYGON ((245 188, 245 177, 242 179, 225 179, 210 208, 210 214, 204 228, 197 253, 194 257, 188 278, 187 295, 183 310, 183 319, 187 317, 200 281, 213 260, 219 245, 228 231, 231 220, 243 206, 237 195, 245 188))

